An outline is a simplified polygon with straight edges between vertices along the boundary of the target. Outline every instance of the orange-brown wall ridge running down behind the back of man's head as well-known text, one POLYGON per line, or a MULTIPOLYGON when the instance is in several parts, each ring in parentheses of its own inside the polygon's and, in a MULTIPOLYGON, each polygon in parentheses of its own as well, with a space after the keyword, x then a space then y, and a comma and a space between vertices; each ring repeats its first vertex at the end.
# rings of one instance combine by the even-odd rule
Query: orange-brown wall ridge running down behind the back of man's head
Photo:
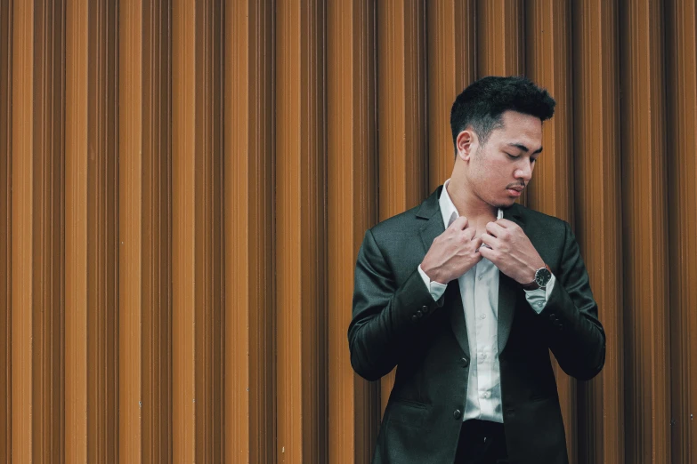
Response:
POLYGON ((428 190, 445 180, 455 160, 450 107, 476 78, 474 0, 428 2, 428 190))

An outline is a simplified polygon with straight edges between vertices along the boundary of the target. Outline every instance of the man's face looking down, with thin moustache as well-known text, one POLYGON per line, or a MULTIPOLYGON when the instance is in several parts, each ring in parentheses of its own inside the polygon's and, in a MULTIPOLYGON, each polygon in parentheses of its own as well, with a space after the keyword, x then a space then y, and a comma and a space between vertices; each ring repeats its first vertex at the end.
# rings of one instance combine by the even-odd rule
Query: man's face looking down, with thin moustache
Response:
POLYGON ((508 207, 521 196, 542 151, 542 122, 516 111, 501 115, 482 146, 474 141, 467 177, 475 196, 496 207, 508 207))

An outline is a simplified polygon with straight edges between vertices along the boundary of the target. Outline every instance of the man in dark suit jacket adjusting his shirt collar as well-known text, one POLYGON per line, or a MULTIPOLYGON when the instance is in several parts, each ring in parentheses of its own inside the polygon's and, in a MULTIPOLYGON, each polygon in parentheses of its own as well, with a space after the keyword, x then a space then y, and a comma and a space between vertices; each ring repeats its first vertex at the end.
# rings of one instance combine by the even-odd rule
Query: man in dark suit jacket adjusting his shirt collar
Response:
POLYGON ((471 84, 450 180, 366 232, 351 362, 368 380, 397 366, 374 463, 568 462, 548 350, 591 379, 604 330, 569 225, 515 204, 554 108, 524 77, 471 84))

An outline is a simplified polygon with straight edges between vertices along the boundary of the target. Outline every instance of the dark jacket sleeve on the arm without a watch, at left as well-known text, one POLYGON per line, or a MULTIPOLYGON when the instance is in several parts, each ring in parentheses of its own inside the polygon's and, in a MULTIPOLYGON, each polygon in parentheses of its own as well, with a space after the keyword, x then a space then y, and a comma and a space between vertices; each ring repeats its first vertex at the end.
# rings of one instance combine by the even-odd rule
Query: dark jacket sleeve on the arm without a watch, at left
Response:
POLYGON ((442 307, 434 301, 414 268, 398 285, 389 264, 368 230, 356 262, 353 319, 348 329, 353 370, 377 380, 393 370, 418 327, 442 307))

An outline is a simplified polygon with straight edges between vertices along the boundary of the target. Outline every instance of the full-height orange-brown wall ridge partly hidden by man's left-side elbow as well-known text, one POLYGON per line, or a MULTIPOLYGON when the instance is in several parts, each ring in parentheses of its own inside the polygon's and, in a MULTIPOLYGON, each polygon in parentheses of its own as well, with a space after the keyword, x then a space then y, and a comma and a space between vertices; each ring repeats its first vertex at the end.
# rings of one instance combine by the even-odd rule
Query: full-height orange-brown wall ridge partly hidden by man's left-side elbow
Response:
POLYGON ((379 424, 379 384, 353 372, 346 331, 353 267, 377 220, 375 6, 328 2, 328 462, 369 462, 379 424))

